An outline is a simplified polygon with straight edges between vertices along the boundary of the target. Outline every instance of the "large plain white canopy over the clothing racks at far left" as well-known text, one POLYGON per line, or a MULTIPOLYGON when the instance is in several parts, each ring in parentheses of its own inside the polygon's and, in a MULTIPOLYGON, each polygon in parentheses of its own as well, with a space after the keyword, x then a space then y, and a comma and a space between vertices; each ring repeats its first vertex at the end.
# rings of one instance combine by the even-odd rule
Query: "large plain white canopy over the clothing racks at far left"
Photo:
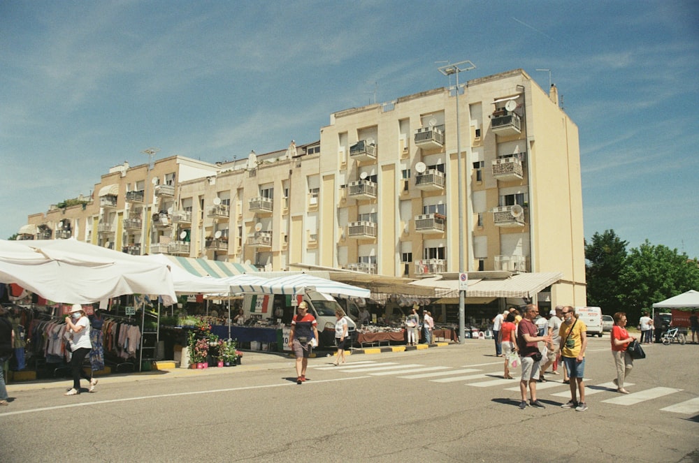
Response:
POLYGON ((73 239, 0 240, 0 283, 70 304, 149 294, 170 305, 177 297, 166 265, 73 239))

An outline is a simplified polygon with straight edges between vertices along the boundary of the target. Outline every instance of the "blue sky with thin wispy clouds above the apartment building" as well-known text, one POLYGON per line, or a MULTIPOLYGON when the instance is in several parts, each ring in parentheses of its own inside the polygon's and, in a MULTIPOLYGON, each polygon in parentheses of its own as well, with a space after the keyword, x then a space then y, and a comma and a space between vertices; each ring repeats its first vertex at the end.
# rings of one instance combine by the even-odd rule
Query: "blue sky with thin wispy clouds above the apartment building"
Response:
POLYGON ((124 161, 230 161, 522 68, 579 128, 584 235, 699 256, 696 1, 0 0, 0 238, 124 161), (539 71, 545 69, 549 71, 539 71), (689 198, 689 199, 688 199, 689 198))

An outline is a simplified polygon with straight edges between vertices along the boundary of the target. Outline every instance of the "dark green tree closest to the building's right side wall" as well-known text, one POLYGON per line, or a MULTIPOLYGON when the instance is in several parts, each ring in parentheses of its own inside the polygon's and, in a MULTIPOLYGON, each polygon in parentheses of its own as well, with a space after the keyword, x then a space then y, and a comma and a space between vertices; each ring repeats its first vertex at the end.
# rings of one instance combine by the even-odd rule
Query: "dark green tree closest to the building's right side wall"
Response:
POLYGON ((603 313, 614 314, 619 309, 622 295, 619 278, 626 265, 626 246, 614 230, 595 233, 591 243, 585 240, 585 275, 587 280, 587 303, 601 307, 603 313))

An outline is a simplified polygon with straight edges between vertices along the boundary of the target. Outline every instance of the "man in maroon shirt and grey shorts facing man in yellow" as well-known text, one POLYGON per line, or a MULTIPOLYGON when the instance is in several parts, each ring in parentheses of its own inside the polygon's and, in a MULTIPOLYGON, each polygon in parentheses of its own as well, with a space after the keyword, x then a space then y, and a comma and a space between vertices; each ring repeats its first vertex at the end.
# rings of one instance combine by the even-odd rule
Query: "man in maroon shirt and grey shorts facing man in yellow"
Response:
POLYGON ((536 379, 539 376, 539 362, 541 361, 541 353, 538 348, 540 341, 551 342, 551 337, 538 336, 538 330, 533 322, 533 319, 539 313, 539 308, 533 304, 528 304, 524 309, 524 318, 519 322, 517 327, 517 348, 519 348, 519 356, 522 363, 522 376, 519 380, 519 392, 521 392, 521 402, 519 409, 526 409, 526 388, 529 383, 529 393, 531 400, 529 405, 536 409, 545 409, 544 404, 536 398, 536 379))

